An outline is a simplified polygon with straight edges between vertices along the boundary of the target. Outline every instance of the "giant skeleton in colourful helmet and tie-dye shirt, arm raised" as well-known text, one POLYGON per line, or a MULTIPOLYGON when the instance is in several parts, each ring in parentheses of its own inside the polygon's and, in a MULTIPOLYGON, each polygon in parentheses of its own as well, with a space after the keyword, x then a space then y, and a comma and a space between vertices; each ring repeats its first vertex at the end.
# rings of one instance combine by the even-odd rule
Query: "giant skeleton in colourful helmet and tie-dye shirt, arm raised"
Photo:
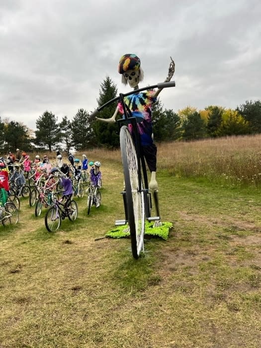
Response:
MULTIPOLYGON (((175 70, 174 60, 171 58, 169 73, 165 82, 169 82, 175 70)), ((152 104, 156 101, 162 88, 145 92, 135 93, 135 89, 139 88, 139 83, 143 81, 144 73, 140 66, 140 59, 135 54, 125 54, 120 58, 118 72, 121 74, 121 82, 124 85, 129 84, 134 89, 134 93, 124 97, 125 104, 130 108, 133 115, 140 116, 143 120, 138 123, 138 130, 141 137, 141 145, 149 170, 151 172, 151 180, 149 189, 154 197, 157 216, 160 216, 158 203, 158 183, 156 181, 156 164, 157 164, 157 147, 153 142, 152 133, 152 104)), ((121 103, 118 104, 113 116, 109 119, 98 118, 97 120, 107 123, 116 122, 115 118, 118 113, 123 113, 121 103)), ((154 226, 160 226, 161 222, 157 221, 154 226)))

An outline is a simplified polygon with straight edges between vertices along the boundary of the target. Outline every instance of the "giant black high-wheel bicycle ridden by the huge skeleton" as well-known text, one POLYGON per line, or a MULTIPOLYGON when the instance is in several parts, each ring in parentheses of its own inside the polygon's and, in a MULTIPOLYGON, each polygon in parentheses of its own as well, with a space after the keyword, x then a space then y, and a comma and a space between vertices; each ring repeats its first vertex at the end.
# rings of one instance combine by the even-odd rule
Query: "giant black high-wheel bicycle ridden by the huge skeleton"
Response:
POLYGON ((120 101, 123 107, 123 118, 117 120, 117 122, 120 128, 120 150, 125 182, 125 188, 122 192, 125 220, 117 220, 115 225, 125 225, 128 223, 132 255, 135 259, 138 259, 140 253, 144 250, 145 220, 160 220, 160 216, 151 216, 152 199, 151 193, 149 192, 145 159, 141 151, 140 136, 138 133, 138 122, 141 119, 133 117, 131 110, 124 103, 124 97, 148 89, 174 86, 175 82, 172 81, 135 89, 125 94, 120 93, 119 96, 98 107, 90 116, 94 118, 99 111, 116 101, 120 101), (128 129, 128 125, 132 126, 132 134, 128 129))

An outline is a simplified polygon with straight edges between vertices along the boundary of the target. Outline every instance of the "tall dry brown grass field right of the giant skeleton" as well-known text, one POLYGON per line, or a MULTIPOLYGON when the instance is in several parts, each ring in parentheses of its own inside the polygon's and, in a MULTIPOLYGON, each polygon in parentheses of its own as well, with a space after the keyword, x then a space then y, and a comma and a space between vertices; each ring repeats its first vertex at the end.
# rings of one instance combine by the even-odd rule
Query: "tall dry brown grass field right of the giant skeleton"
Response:
POLYGON ((176 142, 159 146, 159 169, 223 184, 261 183, 261 135, 176 142))

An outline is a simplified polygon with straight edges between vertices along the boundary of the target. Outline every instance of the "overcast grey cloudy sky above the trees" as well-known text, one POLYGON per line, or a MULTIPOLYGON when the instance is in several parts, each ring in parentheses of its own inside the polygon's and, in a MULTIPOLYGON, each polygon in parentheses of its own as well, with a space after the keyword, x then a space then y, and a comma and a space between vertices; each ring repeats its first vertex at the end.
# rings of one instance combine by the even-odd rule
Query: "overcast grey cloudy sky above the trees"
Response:
MULTIPOLYGON (((164 107, 236 108, 261 99, 260 0, 0 0, 0 116, 35 129, 97 106, 106 76, 128 91, 119 58, 135 53, 145 78, 176 87, 164 107)), ((109 115, 111 116, 111 115, 109 115)))

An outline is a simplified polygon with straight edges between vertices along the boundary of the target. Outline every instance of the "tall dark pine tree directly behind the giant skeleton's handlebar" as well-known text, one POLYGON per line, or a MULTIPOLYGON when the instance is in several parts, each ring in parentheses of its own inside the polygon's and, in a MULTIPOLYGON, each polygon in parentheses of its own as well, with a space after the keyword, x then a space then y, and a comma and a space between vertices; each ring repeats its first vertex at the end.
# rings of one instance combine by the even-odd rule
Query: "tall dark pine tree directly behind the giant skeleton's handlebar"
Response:
MULTIPOLYGON (((103 82, 100 85, 99 97, 97 99, 98 106, 105 104, 110 99, 115 98, 117 95, 117 87, 112 82, 112 80, 106 76, 103 82)), ((117 103, 112 103, 108 107, 101 110, 98 114, 100 118, 109 118, 111 117, 117 103)), ((97 145, 105 145, 109 148, 119 147, 119 128, 116 123, 108 124, 100 121, 94 121, 92 123, 93 131, 95 134, 95 140, 97 145)))

